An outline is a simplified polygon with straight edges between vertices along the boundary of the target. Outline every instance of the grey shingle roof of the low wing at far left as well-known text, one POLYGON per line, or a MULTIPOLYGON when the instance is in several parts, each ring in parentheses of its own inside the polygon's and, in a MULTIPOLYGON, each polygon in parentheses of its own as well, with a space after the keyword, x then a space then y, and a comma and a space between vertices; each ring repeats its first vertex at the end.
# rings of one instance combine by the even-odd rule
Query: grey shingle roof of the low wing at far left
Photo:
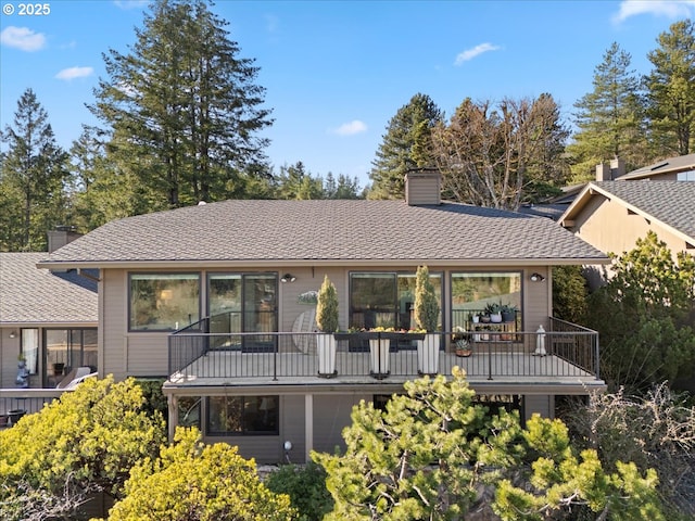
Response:
POLYGON ((0 323, 97 323, 97 282, 36 264, 48 253, 0 253, 0 323))

